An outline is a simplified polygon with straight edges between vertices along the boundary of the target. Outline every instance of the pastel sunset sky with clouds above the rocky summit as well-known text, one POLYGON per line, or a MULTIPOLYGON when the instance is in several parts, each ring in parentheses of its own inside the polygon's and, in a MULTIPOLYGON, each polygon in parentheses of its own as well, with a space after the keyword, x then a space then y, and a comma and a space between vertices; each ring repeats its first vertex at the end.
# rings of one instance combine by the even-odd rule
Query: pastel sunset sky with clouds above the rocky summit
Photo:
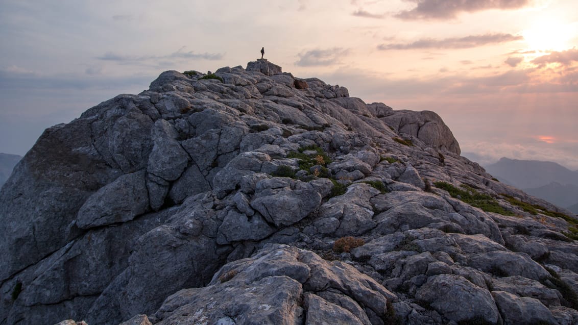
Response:
POLYGON ((265 58, 438 113, 462 153, 578 170, 576 0, 0 0, 0 152, 165 70, 265 58))

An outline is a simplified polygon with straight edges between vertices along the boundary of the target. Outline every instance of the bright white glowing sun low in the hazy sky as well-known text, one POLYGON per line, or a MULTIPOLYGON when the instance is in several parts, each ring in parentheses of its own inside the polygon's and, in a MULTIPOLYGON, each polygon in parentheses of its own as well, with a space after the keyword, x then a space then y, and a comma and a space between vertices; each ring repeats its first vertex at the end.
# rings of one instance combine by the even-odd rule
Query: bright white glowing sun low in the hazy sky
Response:
POLYGON ((571 25, 555 20, 536 21, 532 27, 522 32, 529 50, 561 51, 570 47, 569 40, 574 34, 571 25))

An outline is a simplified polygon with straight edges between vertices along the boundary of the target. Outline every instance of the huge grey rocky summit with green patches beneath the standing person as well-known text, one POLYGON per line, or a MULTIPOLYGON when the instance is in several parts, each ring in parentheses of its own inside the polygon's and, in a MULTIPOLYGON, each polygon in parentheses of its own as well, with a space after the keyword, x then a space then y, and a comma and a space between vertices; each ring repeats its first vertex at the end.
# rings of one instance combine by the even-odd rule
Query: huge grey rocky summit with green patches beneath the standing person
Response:
POLYGON ((2 325, 578 323, 568 212, 266 60, 47 129, 0 218, 2 325))

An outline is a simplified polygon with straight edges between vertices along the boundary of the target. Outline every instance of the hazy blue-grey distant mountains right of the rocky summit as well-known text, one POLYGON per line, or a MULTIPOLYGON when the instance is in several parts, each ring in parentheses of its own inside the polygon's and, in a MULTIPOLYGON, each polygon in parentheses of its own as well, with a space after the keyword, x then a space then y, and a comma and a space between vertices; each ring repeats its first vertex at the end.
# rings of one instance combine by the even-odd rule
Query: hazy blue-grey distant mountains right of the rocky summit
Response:
POLYGON ((554 162, 508 158, 484 168, 501 182, 578 214, 578 171, 554 162))

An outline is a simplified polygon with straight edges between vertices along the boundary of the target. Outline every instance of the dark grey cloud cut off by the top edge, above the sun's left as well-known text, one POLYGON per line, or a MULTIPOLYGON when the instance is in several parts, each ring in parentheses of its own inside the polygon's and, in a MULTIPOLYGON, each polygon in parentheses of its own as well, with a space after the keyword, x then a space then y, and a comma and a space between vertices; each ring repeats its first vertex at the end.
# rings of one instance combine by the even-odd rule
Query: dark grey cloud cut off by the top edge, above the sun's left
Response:
POLYGON ((405 0, 416 3, 412 10, 399 12, 397 18, 405 20, 418 19, 453 19, 461 12, 477 12, 488 9, 518 9, 527 6, 530 0, 405 0))

